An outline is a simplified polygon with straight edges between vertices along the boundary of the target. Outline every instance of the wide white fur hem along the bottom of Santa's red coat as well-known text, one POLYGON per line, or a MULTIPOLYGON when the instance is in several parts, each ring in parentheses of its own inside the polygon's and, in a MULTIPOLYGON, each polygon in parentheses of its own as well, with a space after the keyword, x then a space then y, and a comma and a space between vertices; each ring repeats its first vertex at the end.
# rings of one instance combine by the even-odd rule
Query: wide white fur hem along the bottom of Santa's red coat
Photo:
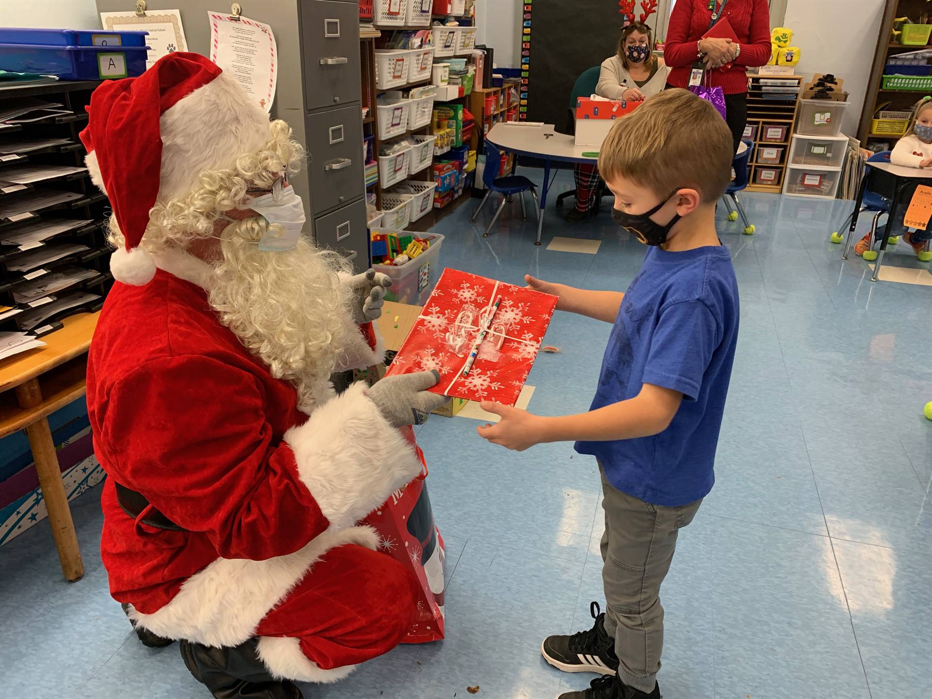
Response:
POLYGON ((328 530, 300 551, 264 561, 218 558, 188 578, 171 602, 152 614, 130 610, 130 619, 164 638, 206 646, 237 646, 314 563, 336 546, 355 543, 375 551, 371 527, 328 530))

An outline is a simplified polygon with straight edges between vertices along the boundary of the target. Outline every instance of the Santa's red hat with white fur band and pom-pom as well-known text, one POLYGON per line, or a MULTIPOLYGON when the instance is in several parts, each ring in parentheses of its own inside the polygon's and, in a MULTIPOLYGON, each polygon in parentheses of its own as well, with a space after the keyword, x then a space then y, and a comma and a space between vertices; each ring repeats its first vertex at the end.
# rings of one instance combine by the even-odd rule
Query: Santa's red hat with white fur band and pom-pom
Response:
POLYGON ((270 138, 266 112, 197 53, 171 53, 139 77, 104 82, 88 112, 81 141, 90 178, 110 198, 126 240, 110 268, 136 286, 156 273, 139 243, 157 201, 185 196, 202 172, 231 168, 270 138))

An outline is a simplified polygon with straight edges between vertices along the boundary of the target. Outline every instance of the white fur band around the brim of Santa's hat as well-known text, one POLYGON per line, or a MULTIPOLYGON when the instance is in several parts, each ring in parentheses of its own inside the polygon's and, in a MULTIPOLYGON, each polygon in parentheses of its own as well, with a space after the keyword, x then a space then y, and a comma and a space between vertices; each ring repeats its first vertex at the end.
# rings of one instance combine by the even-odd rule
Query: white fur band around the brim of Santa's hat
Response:
POLYGON ((268 115, 228 73, 165 110, 158 129, 159 201, 185 196, 202 172, 232 168, 241 155, 256 152, 271 139, 268 115))

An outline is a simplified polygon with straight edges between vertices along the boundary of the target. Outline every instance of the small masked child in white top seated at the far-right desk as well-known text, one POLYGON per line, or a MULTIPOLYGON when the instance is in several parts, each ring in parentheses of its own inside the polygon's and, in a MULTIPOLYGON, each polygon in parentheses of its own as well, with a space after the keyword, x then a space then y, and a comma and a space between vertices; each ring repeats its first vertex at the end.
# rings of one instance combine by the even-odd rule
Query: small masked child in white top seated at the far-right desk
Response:
MULTIPOLYGON (((890 154, 890 162, 907 168, 932 168, 932 97, 924 97, 912 107, 910 129, 894 146, 890 154)), ((929 176, 932 177, 932 172, 929 176)), ((903 240, 910 243, 916 257, 923 262, 928 262, 932 260, 932 253, 927 250, 928 241, 932 240, 932 226, 926 223, 925 230, 912 232, 903 226, 902 216, 906 213, 906 207, 915 190, 916 185, 906 188, 901 199, 903 206, 899 209, 897 220, 888 219, 884 226, 877 226, 874 240, 884 240, 884 236, 901 236, 903 240)), ((863 255, 869 249, 870 233, 855 243, 855 254, 863 255)))

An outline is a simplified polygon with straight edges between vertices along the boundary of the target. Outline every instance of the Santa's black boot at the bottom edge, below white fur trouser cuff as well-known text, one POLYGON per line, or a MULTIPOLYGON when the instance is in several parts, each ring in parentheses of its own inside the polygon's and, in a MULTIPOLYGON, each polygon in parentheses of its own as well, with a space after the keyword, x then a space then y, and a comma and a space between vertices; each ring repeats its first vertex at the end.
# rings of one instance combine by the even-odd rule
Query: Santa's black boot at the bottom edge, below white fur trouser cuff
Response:
POLYGON ((212 648, 182 640, 187 669, 215 699, 303 699, 290 679, 275 679, 256 653, 258 638, 233 648, 212 648))

